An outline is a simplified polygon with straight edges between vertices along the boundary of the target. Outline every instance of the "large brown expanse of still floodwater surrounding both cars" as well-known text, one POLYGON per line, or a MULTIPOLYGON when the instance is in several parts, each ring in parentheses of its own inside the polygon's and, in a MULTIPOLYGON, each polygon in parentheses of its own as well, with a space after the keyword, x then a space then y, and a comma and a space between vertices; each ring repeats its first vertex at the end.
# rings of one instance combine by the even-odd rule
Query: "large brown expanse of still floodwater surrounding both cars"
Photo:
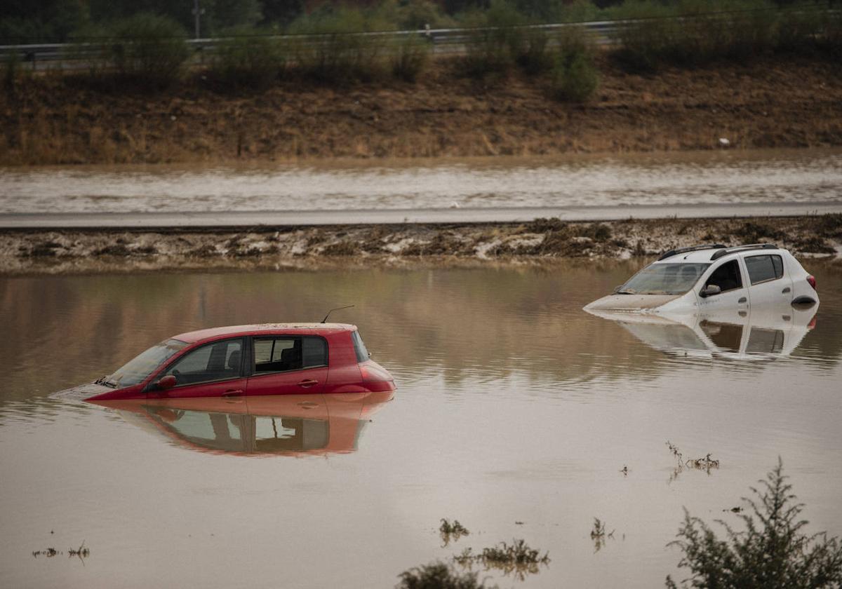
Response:
POLYGON ((807 264, 818 312, 662 330, 581 310, 636 264, 0 279, 0 586, 391 587, 513 539, 551 561, 482 577, 663 586, 682 507, 736 523, 779 456, 808 531, 842 534, 839 269, 807 264), (179 332, 340 304, 392 401, 50 397, 179 332), (677 469, 668 440, 719 468, 677 469), (470 535, 443 545, 442 517, 470 535))

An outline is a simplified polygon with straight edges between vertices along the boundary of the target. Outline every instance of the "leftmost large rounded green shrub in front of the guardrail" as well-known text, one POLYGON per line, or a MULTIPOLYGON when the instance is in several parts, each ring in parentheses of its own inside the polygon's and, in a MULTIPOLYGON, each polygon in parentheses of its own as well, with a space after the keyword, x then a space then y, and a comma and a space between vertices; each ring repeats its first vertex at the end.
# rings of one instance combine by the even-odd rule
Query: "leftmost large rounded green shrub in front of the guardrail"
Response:
POLYGON ((167 86, 181 75, 189 57, 186 31, 172 19, 138 13, 110 27, 109 63, 125 79, 167 86))

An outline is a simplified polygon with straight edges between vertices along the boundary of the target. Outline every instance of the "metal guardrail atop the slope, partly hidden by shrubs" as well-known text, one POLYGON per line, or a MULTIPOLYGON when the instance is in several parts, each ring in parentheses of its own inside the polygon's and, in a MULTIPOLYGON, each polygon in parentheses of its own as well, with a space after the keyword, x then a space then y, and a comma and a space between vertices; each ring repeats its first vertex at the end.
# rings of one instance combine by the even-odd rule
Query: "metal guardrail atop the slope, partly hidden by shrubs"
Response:
MULTIPOLYGON (((805 9, 820 8, 816 4, 812 7, 801 6, 797 12, 803 12, 805 9)), ((823 10, 828 8, 821 7, 823 10)), ((707 13, 694 15, 692 17, 665 17, 666 19, 677 20, 695 20, 700 18, 725 18, 728 15, 741 12, 754 12, 754 10, 747 11, 727 11, 722 13, 707 13)), ((786 12, 781 10, 781 12, 786 12)), ((838 13, 839 10, 832 10, 830 12, 838 13)), ((557 39, 565 30, 571 28, 584 29, 597 43, 606 45, 616 40, 616 34, 623 28, 630 24, 641 22, 640 20, 598 20, 584 23, 557 23, 557 24, 532 24, 525 25, 523 29, 541 29, 546 31, 550 39, 557 39)), ((415 36, 418 39, 427 40, 432 45, 434 54, 455 54, 463 52, 465 45, 471 42, 472 36, 477 34, 477 31, 483 29, 418 29, 418 30, 402 30, 402 31, 382 31, 370 33, 350 33, 349 35, 360 36, 377 36, 387 40, 398 41, 415 36)), ((274 39, 290 39, 290 40, 304 40, 316 44, 319 39, 325 39, 328 35, 323 34, 308 34, 308 35, 273 35, 274 39)), ((210 56, 224 43, 230 41, 232 37, 216 37, 206 39, 189 39, 185 43, 194 50, 196 56, 210 56)), ((17 54, 20 61, 32 64, 32 67, 61 65, 63 63, 72 64, 72 62, 85 61, 97 59, 102 55, 102 49, 109 45, 112 40, 90 40, 84 43, 42 43, 31 45, 0 45, 0 60, 5 61, 9 56, 17 54), (88 50, 89 47, 89 50, 88 50)), ((116 40, 114 40, 116 41, 116 40)))

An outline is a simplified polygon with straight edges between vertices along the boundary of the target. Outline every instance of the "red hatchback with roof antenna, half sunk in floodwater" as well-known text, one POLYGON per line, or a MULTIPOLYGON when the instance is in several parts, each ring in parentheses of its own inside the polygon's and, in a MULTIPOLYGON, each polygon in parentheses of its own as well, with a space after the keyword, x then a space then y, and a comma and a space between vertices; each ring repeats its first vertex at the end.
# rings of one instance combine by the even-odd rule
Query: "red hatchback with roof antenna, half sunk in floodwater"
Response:
POLYGON ((274 323, 182 333, 74 392, 113 401, 392 390, 356 326, 274 323))

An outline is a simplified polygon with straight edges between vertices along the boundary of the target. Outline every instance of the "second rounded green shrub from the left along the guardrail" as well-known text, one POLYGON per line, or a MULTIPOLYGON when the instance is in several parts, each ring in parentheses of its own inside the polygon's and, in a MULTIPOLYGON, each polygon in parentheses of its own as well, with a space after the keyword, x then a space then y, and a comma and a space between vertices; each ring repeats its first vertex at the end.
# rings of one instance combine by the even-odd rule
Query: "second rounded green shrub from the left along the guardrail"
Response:
POLYGON ((208 73, 234 88, 269 88, 284 72, 285 41, 249 29, 238 29, 218 45, 208 73))

